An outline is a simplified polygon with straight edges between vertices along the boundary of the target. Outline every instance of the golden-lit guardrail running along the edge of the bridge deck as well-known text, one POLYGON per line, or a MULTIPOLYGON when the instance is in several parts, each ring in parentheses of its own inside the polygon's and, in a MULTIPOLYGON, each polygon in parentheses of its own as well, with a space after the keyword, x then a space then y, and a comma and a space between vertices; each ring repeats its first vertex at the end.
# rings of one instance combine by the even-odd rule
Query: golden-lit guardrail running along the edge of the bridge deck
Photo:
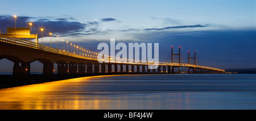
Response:
MULTIPOLYGON (((38 44, 35 42, 31 42, 31 41, 27 41, 27 40, 23 40, 20 38, 7 38, 7 37, 2 37, 0 36, 0 42, 5 42, 5 43, 9 43, 9 44, 13 44, 13 45, 19 45, 19 46, 24 46, 24 47, 30 47, 32 49, 38 49, 38 50, 43 50, 43 51, 48 51, 51 53, 56 53, 56 54, 61 54, 61 55, 67 55, 69 57, 75 57, 75 58, 81 58, 81 59, 88 59, 88 60, 98 60, 97 59, 97 53, 96 55, 89 55, 89 54, 84 54, 82 55, 77 55, 77 54, 73 54, 73 53, 69 53, 67 51, 64 50, 58 50, 55 49, 53 47, 49 47, 46 45, 42 45, 42 44, 38 44), (88 56, 88 57, 86 57, 88 56)), ((112 58, 113 59, 113 58, 112 58)), ((104 60, 104 59, 102 59, 104 60)), ((116 59, 117 60, 117 59, 116 59)), ((128 60, 128 59, 127 59, 128 60)), ((152 65, 154 66, 154 63, 131 63, 131 62, 122 62, 122 61, 115 61, 115 63, 123 63, 123 64, 146 64, 146 65, 152 65)), ((224 72, 225 70, 221 70, 218 68, 212 68, 212 67, 205 67, 205 66, 198 66, 198 65, 193 65, 193 64, 184 64, 184 63, 165 63, 165 62, 159 62, 158 63, 159 66, 180 66, 180 67, 196 67, 196 68, 204 68, 204 69, 208 69, 208 70, 216 70, 216 71, 222 71, 224 72)))

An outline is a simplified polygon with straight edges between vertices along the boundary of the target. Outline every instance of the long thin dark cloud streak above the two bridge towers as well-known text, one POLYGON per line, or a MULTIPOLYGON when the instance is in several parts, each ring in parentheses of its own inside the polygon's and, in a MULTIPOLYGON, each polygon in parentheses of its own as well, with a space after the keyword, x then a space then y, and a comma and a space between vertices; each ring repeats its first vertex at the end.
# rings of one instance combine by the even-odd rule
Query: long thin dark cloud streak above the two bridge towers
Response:
POLYGON ((180 28, 201 28, 201 27, 208 27, 208 25, 201 25, 201 24, 197 24, 197 25, 178 25, 178 26, 174 26, 174 27, 164 27, 164 28, 146 28, 143 29, 144 31, 161 31, 164 29, 180 29, 180 28))

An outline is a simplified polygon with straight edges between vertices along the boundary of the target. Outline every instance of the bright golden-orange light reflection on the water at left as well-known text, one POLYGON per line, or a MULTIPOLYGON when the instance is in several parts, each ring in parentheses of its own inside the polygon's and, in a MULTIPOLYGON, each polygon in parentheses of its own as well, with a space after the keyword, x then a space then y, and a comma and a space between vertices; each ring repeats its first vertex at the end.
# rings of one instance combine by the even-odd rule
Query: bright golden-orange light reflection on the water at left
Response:
MULTIPOLYGON (((97 109, 97 100, 80 100, 77 83, 89 81, 91 77, 53 81, 0 89, 0 109, 97 109), (75 88, 73 88, 75 87, 75 88), (68 96, 67 96, 68 94, 68 96)), ((85 87, 85 85, 82 85, 85 87)))

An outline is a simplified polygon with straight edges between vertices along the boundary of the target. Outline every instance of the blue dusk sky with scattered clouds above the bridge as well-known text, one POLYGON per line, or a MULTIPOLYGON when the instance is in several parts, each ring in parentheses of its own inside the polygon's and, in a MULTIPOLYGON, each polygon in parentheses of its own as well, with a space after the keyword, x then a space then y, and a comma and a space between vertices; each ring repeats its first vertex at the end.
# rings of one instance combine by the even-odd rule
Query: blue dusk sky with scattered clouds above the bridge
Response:
POLYGON ((1 0, 0 32, 14 27, 16 14, 16 27, 28 27, 32 21, 32 33, 39 37, 39 28, 46 29, 46 45, 47 32, 93 51, 110 38, 126 44, 152 42, 159 43, 160 61, 170 62, 170 47, 176 53, 181 46, 183 63, 188 61, 189 50, 196 51, 196 63, 201 66, 256 68, 255 6, 254 0, 1 0))

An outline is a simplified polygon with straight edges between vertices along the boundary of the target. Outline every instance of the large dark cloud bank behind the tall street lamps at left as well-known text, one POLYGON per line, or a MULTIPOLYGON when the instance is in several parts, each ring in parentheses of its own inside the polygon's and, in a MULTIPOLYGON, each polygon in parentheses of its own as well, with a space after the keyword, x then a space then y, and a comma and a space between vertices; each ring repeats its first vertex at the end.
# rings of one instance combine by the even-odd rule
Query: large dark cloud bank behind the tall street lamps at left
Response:
MULTIPOLYGON (((68 21, 68 19, 59 18, 56 21, 49 19, 32 18, 29 16, 18 16, 16 19, 16 27, 29 27, 28 22, 32 21, 32 33, 39 33, 39 28, 45 28, 46 32, 52 32, 56 34, 76 34, 85 30, 86 24, 77 21, 68 21), (37 20, 36 20, 37 19, 37 20)), ((15 19, 13 16, 2 15, 0 16, 0 30, 2 33, 6 33, 7 27, 15 27, 15 19)), ((45 36, 49 36, 45 34, 45 36)))

